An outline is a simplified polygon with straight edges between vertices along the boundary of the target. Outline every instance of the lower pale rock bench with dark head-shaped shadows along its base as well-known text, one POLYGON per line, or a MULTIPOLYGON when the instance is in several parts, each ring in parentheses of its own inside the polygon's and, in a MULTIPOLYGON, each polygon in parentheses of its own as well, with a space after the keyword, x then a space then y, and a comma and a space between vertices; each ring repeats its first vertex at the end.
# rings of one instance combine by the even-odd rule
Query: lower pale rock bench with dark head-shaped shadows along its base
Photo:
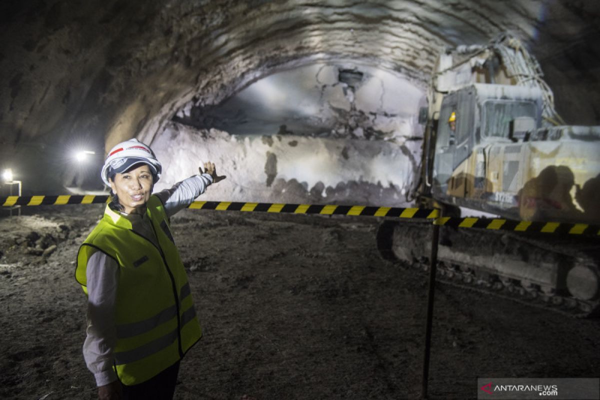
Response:
POLYGON ((401 206, 408 204, 419 147, 419 141, 242 137, 171 123, 152 143, 164 171, 155 190, 210 160, 227 178, 199 200, 401 206))

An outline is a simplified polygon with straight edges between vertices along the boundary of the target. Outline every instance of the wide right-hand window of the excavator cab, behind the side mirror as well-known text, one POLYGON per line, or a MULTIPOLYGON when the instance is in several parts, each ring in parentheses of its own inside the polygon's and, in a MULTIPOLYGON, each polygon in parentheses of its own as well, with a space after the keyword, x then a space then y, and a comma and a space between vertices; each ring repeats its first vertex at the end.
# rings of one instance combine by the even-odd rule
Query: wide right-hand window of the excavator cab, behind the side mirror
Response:
POLYGON ((536 104, 533 101, 487 100, 483 107, 483 130, 486 137, 511 138, 511 122, 517 118, 536 119, 536 104))

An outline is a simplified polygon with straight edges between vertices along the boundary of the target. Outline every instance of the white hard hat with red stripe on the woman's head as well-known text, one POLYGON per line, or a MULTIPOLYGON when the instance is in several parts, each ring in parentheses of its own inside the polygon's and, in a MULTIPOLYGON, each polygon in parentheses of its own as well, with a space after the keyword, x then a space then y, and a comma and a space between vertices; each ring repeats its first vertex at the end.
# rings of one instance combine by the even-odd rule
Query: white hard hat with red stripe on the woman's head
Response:
POLYGON ((152 149, 137 139, 130 139, 110 149, 102 167, 102 181, 110 187, 110 176, 123 173, 137 164, 148 164, 154 175, 154 183, 160 179, 163 166, 156 159, 152 149))

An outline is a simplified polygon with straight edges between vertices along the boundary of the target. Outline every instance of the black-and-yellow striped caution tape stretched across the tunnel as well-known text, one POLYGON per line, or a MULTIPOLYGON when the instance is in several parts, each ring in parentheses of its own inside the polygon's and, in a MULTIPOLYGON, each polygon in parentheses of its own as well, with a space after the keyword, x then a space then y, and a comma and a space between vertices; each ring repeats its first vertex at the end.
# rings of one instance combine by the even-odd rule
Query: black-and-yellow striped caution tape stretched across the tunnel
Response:
MULTIPOLYGON (((44 206, 61 204, 103 204, 109 196, 8 196, 0 197, 3 207, 44 206)), ((568 222, 515 221, 503 218, 439 218, 437 209, 403 207, 343 206, 334 204, 242 203, 238 201, 194 201, 190 209, 271 212, 319 215, 386 216, 395 218, 434 219, 436 225, 457 228, 480 228, 528 233, 554 233, 600 236, 600 226, 568 222)))

